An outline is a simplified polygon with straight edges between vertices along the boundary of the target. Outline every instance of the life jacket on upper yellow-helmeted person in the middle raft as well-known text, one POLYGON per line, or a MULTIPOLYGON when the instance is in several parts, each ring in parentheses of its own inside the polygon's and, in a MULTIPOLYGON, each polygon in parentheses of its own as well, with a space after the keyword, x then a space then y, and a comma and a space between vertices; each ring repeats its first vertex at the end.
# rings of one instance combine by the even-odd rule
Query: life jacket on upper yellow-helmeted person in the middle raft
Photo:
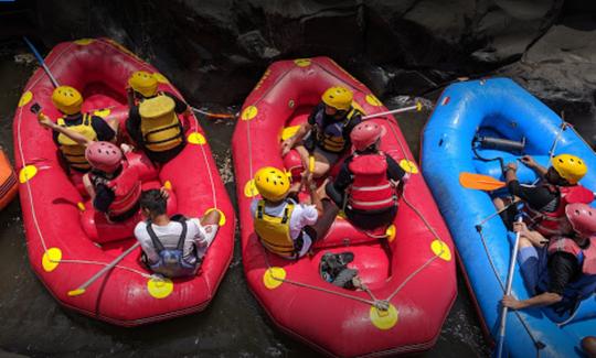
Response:
POLYGON ((344 133, 345 128, 350 124, 350 121, 354 115, 361 115, 355 108, 351 108, 348 115, 340 120, 331 123, 324 123, 324 108, 320 109, 315 115, 315 140, 317 145, 323 150, 332 153, 340 153, 345 149, 347 137, 344 133))

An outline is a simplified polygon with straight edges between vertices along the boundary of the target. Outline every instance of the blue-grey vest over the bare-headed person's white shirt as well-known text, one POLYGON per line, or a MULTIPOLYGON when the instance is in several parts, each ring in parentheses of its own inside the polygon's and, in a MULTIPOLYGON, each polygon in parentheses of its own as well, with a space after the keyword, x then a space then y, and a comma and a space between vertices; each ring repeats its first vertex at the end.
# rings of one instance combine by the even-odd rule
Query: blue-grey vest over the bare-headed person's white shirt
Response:
MULTIPOLYGON (((199 268, 199 261, 198 263, 189 263, 184 260, 184 241, 187 239, 188 230, 187 218, 181 215, 177 215, 173 216, 171 220, 178 221, 180 225, 182 225, 182 232, 180 234, 180 239, 178 239, 175 249, 166 249, 163 243, 161 243, 157 237, 156 231, 153 231, 151 223, 147 221, 147 232, 149 234, 151 242, 153 243, 153 247, 159 256, 159 260, 156 263, 149 263, 149 268, 155 273, 160 273, 167 278, 193 275, 196 273, 196 269, 199 268)), ((196 252, 196 248, 193 247, 193 250, 196 252)))

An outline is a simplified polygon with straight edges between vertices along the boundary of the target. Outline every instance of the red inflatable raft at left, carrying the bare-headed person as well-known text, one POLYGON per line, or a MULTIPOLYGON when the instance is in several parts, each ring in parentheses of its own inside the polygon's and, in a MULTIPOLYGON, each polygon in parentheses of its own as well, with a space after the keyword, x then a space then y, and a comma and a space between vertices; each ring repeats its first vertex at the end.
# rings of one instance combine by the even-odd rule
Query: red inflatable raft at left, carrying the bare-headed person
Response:
MULTIPOLYGON (((128 112, 125 87, 132 72, 153 73, 160 90, 182 98, 155 67, 110 40, 58 44, 46 57, 46 64, 61 85, 73 86, 83 94, 83 111, 118 120, 121 132, 128 112)), ((135 165, 146 170, 143 187, 171 183, 174 200, 170 203, 170 213, 196 217, 217 209, 222 214, 220 231, 198 274, 173 282, 153 278, 139 261, 139 248, 84 294, 67 294, 136 242, 132 228, 137 221, 111 226, 96 221, 97 232, 84 228, 92 215, 88 198, 61 166, 51 131, 44 130, 30 111, 33 104, 40 104, 50 118, 58 118, 51 101, 53 89, 47 75, 38 69, 25 86, 14 117, 14 153, 33 271, 64 306, 117 325, 135 326, 203 310, 232 259, 235 218, 194 116, 180 117, 188 143, 166 165, 156 169, 142 155, 134 156, 135 165)), ((95 219, 98 218, 96 215, 95 219)))

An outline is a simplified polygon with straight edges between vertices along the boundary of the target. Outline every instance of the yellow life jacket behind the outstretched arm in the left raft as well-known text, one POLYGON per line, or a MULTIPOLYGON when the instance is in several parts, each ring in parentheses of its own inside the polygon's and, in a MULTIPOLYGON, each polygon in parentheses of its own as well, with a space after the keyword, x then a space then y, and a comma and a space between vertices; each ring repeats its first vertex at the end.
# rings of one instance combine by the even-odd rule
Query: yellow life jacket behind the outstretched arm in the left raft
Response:
MULTIPOLYGON (((84 135, 88 140, 97 140, 97 133, 95 132, 95 129, 93 129, 92 117, 88 113, 83 115, 83 120, 81 121, 81 124, 67 126, 64 118, 58 118, 57 124, 60 127, 68 128, 70 130, 73 130, 78 134, 84 135)), ((85 145, 78 144, 77 142, 73 141, 72 139, 62 133, 58 134, 57 142, 60 144, 60 150, 62 151, 64 160, 66 160, 70 166, 84 171, 91 169, 91 165, 85 158, 85 145)))

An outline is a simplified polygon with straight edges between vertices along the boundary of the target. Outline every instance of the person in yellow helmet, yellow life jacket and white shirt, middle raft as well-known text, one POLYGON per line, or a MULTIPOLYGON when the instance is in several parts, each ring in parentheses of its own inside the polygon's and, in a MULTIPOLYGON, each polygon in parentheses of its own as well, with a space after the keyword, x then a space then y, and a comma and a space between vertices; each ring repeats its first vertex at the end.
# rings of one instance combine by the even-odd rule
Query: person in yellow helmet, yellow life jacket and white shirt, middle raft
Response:
POLYGON ((255 186, 263 197, 251 204, 255 232, 263 246, 285 259, 305 256, 317 240, 324 238, 339 208, 329 199, 321 200, 312 174, 305 176, 312 205, 298 204, 288 197, 301 186, 294 185, 283 171, 265 166, 255 174, 255 186))

